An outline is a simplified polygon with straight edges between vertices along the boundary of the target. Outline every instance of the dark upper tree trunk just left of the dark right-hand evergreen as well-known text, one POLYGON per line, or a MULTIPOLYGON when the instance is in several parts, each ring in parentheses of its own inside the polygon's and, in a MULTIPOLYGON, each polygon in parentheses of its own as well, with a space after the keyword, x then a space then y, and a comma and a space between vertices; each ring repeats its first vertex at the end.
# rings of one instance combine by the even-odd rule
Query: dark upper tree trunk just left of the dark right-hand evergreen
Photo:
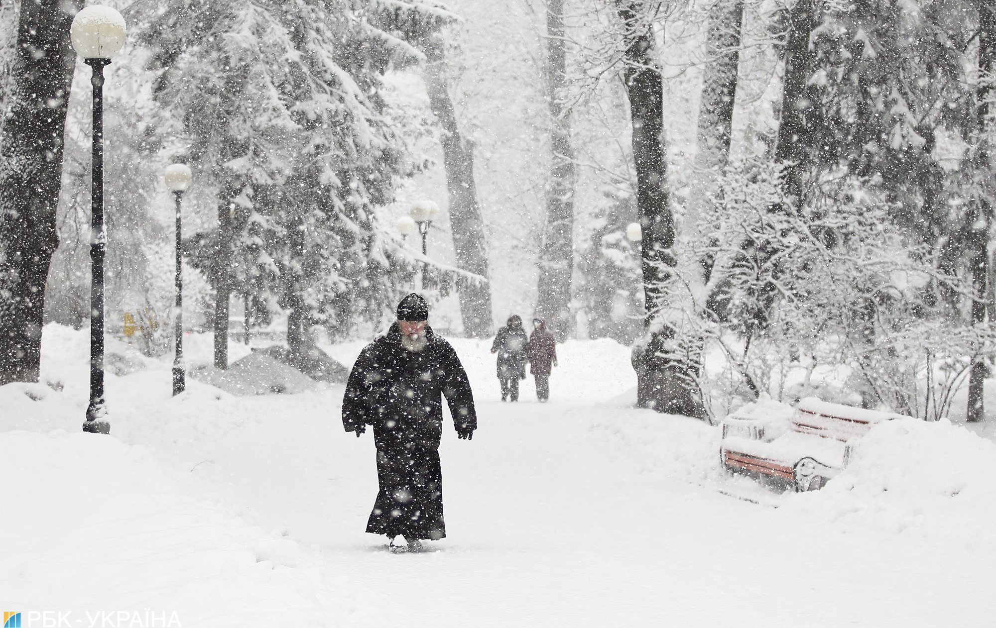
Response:
POLYGON ((798 0, 789 14, 789 37, 785 46, 785 77, 782 80, 782 118, 778 125, 775 161, 787 164, 785 191, 802 199, 803 170, 808 164, 803 141, 816 107, 815 89, 808 86, 816 70, 816 52, 810 34, 819 25, 817 0, 798 0))

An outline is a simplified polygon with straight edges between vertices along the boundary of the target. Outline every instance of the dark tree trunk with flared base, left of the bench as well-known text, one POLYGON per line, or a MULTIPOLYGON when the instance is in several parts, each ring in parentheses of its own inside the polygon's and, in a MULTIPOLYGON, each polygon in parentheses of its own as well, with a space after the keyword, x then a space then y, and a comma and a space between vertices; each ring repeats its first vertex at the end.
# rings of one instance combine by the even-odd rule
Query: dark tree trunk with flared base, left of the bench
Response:
POLYGON ((672 357, 669 349, 674 330, 655 320, 667 295, 665 283, 675 260, 674 219, 669 205, 667 160, 664 152, 664 93, 660 72, 650 54, 653 31, 641 19, 644 3, 619 0, 619 15, 626 27, 626 67, 623 74, 632 123, 632 157, 636 169, 636 210, 643 237, 643 292, 650 334, 648 343, 633 352, 637 404, 658 412, 705 417, 705 409, 688 386, 687 364, 672 357))

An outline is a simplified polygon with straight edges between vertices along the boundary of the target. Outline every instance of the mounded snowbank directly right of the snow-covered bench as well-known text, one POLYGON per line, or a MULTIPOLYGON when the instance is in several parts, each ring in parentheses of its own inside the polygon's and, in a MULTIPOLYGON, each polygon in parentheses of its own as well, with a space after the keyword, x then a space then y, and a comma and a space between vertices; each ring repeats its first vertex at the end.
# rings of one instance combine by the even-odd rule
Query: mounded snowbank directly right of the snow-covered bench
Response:
POLYGON ((844 526, 996 546, 996 445, 947 420, 901 418, 858 441, 849 467, 786 504, 844 526))

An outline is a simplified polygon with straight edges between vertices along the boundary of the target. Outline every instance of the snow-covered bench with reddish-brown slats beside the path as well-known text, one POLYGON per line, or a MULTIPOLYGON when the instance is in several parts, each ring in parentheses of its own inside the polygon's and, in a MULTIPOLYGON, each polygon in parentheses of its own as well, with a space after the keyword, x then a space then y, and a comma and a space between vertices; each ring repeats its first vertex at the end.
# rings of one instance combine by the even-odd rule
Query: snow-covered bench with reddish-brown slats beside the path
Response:
POLYGON ((889 412, 807 397, 792 410, 776 402, 745 406, 723 419, 723 467, 784 489, 816 491, 848 466, 856 439, 889 412))

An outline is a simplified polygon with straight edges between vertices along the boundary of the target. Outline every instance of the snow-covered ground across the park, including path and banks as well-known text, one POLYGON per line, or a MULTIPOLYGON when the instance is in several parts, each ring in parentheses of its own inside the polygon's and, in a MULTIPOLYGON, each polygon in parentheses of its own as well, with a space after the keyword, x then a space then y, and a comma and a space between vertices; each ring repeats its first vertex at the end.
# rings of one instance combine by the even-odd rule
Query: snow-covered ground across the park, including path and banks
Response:
MULTIPOLYGON (((503 404, 490 343, 453 343, 480 428, 443 437, 449 536, 393 555, 363 531, 373 442, 343 432, 342 386, 188 380, 173 398, 168 360, 113 341, 112 436, 83 434, 87 332, 47 326, 42 382, 0 388, 5 610, 23 626, 992 625, 991 442, 879 426, 823 491, 775 509, 720 494, 716 428, 629 407, 625 347, 560 345, 551 402, 529 379, 503 404)), ((328 348, 350 364, 362 343, 328 348)))

